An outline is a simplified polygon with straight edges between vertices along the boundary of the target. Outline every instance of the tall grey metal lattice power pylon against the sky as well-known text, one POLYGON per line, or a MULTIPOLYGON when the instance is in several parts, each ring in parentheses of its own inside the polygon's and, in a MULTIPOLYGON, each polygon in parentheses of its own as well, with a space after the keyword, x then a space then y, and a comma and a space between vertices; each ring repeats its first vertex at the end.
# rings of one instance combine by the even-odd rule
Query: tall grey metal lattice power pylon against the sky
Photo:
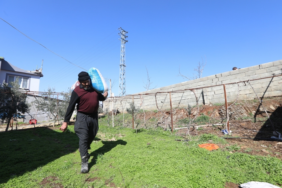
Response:
POLYGON ((120 31, 120 41, 121 41, 121 47, 120 47, 120 63, 119 63, 119 89, 118 89, 118 95, 119 96, 125 96, 126 95, 126 88, 125 88, 125 43, 128 42, 126 38, 127 31, 123 30, 122 28, 118 29, 120 31))

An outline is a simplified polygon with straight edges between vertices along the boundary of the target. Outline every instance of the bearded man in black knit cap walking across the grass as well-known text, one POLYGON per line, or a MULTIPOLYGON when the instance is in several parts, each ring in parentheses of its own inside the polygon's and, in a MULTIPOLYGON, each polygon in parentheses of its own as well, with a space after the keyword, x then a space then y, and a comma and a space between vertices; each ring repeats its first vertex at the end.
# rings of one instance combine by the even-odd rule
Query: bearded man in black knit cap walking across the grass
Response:
POLYGON ((90 76, 87 72, 78 74, 80 85, 76 87, 70 97, 70 103, 65 113, 64 123, 60 127, 61 131, 65 131, 70 122, 71 115, 76 106, 77 115, 74 131, 79 138, 79 152, 81 156, 81 173, 88 173, 88 160, 90 154, 88 149, 98 132, 98 107, 99 101, 104 101, 108 92, 104 94, 98 93, 90 87, 90 76), (76 105, 77 104, 77 105, 76 105))

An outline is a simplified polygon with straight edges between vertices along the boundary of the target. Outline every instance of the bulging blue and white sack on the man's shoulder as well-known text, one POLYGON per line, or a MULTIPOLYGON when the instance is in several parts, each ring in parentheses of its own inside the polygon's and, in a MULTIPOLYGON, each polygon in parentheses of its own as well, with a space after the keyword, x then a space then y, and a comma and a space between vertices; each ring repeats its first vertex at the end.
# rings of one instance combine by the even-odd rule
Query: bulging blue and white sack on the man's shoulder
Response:
POLYGON ((88 74, 92 81, 92 87, 99 93, 104 93, 109 90, 107 83, 100 71, 96 68, 91 68, 88 70, 88 74))

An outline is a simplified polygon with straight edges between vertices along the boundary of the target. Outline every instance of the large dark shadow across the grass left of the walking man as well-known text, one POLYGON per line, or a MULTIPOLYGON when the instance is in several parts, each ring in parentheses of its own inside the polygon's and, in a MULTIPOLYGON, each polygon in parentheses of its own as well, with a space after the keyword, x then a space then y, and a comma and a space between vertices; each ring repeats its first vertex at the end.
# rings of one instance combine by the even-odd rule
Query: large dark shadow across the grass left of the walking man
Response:
POLYGON ((76 152, 78 137, 74 131, 68 130, 62 133, 51 128, 37 127, 1 132, 0 187, 15 176, 76 152))

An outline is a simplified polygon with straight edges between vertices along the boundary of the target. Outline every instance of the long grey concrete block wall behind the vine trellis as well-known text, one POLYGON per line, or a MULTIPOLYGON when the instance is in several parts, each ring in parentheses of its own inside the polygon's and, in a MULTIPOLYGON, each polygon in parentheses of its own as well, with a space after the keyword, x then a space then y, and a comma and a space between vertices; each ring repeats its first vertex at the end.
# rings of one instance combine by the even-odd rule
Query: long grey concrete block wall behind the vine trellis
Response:
MULTIPOLYGON (((146 93, 156 93, 156 92, 165 92, 159 93, 157 95, 157 104, 161 110, 170 109, 170 91, 198 88, 198 87, 206 87, 203 89, 197 89, 196 95, 198 97, 199 104, 208 104, 208 103, 222 103, 225 102, 224 99, 224 90, 221 84, 228 84, 238 81, 247 81, 252 79, 269 77, 282 73, 282 60, 273 61, 269 63, 264 63, 261 65, 255 65, 251 67, 246 67, 238 70, 231 70, 228 72, 223 72, 220 74, 206 76, 196 80, 185 81, 181 83, 177 83, 170 86, 156 88, 150 91, 143 91, 140 93, 135 93, 134 95, 134 103, 137 107, 141 105, 142 98, 142 108, 145 110, 156 110, 156 102, 154 95, 145 95, 146 93), (220 86, 217 86, 220 85, 220 86)), ((251 84, 255 91, 257 92, 259 97, 273 97, 273 96, 281 96, 282 95, 282 84, 278 83, 282 81, 282 76, 277 76, 273 78, 265 78, 260 80, 251 81, 251 84)), ((234 101, 237 98, 238 93, 238 85, 237 84, 228 84, 226 85, 227 92, 227 101, 234 101)), ((114 98, 113 99, 113 108, 122 112, 127 107, 129 107, 129 103, 132 102, 132 96, 122 98, 114 98), (131 99, 130 99, 131 97, 131 99), (129 98, 129 99, 125 99, 129 98), (122 106, 123 104, 123 106, 122 106)), ((239 97, 238 99, 253 99, 256 98, 256 95, 251 88, 251 86, 247 82, 239 83, 239 97)), ((177 93, 171 93, 171 102, 172 107, 187 107, 189 105, 196 105, 196 98, 192 91, 179 91, 177 93)), ((104 110, 106 108, 111 110, 110 100, 107 99, 103 103, 104 110)))

